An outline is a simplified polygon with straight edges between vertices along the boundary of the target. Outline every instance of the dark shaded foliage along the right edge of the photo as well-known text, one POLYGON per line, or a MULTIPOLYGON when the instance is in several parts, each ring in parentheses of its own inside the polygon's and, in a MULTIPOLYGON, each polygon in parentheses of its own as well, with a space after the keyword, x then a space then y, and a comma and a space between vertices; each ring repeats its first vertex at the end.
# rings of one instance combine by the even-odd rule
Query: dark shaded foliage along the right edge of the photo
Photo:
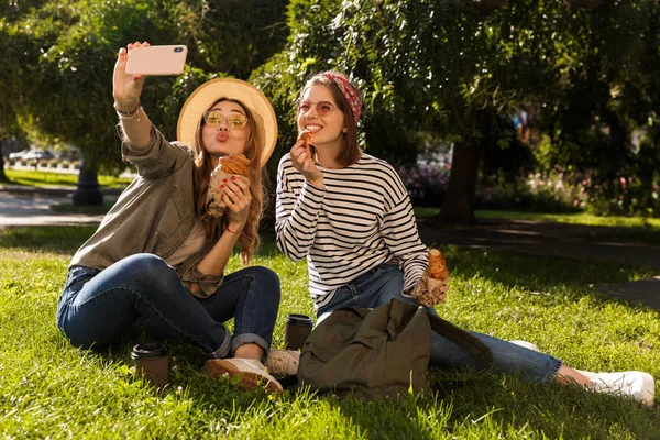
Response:
POLYGON ((594 212, 658 216, 660 3, 574 14, 566 25, 580 63, 543 103, 551 144, 538 154, 542 170, 560 167, 584 183, 594 212))

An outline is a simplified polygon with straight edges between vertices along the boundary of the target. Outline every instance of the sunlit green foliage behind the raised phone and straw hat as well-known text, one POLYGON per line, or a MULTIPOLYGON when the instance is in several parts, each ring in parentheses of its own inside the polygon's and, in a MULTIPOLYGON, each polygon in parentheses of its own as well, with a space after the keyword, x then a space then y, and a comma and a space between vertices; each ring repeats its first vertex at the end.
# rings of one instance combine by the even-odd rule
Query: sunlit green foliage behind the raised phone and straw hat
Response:
POLYGON ((35 8, 13 13, 11 22, 0 22, 0 42, 15 47, 15 56, 9 57, 14 74, 7 84, 12 92, 0 96, 0 110, 12 112, 0 125, 23 127, 32 136, 42 133, 41 142, 51 145, 77 145, 86 167, 117 173, 124 167, 111 94, 119 47, 145 40, 190 46, 185 74, 148 78, 142 96, 154 123, 175 139, 178 110, 198 85, 218 75, 244 78, 278 48, 285 31, 273 23, 282 14, 283 1, 229 1, 218 7, 170 0, 35 2, 35 8), (205 72, 218 68, 224 72, 205 72), (13 125, 12 116, 18 117, 13 125))

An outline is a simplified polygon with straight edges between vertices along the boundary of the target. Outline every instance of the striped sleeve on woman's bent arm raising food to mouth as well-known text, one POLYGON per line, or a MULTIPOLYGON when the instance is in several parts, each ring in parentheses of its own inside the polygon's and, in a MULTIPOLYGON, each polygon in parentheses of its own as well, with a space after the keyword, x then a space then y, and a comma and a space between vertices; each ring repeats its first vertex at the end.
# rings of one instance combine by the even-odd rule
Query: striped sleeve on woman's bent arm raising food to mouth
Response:
POLYGON ((277 201, 275 206, 275 232, 277 248, 293 261, 307 256, 314 245, 319 212, 326 196, 326 188, 319 189, 307 184, 294 168, 286 154, 277 169, 277 201), (296 191, 290 178, 297 177, 301 188, 296 191))

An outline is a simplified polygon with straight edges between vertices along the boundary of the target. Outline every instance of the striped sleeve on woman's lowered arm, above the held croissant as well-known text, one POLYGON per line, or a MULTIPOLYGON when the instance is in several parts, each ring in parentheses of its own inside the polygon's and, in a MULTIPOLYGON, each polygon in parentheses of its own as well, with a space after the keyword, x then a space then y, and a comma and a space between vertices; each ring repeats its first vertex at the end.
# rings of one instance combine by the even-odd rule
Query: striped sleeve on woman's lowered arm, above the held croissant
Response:
POLYGON ((387 201, 381 233, 404 272, 404 293, 410 292, 429 265, 428 250, 419 238, 410 197, 396 175, 396 198, 387 201))

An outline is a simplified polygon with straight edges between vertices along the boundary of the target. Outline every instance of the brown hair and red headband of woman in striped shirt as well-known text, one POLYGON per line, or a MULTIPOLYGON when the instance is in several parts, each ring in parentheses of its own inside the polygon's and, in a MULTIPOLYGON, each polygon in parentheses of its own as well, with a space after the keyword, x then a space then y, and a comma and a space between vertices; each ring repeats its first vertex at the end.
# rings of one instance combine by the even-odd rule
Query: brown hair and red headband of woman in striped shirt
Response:
MULTIPOLYGON (((346 97, 344 96, 344 94, 341 91, 341 89, 339 88, 339 86, 330 78, 328 78, 324 74, 332 74, 336 76, 340 76, 344 79, 346 79, 346 81, 349 80, 346 78, 345 75, 339 73, 339 72, 334 72, 334 70, 327 70, 327 72, 321 72, 320 74, 316 74, 315 76, 312 76, 302 87, 302 89, 300 89, 300 95, 298 100, 300 101, 302 99, 302 97, 305 96, 305 92, 307 91, 307 89, 314 87, 314 86, 326 86, 328 87, 328 89, 330 89, 330 92, 332 94, 332 98, 334 98, 334 101, 337 102, 337 107, 343 112, 344 114, 344 120, 346 123, 346 133, 344 135, 344 140, 343 140, 343 145, 341 147, 341 151, 337 154, 337 157, 334 158, 337 162, 339 162, 342 166, 350 166, 353 165, 354 163, 356 163, 360 160, 360 155, 362 154, 362 150, 360 148, 360 145, 358 145, 358 121, 355 121, 355 118, 353 117, 353 111, 351 109, 351 105, 349 103, 349 100, 346 99, 346 97)), ((360 89, 358 88, 358 86, 355 86, 355 84, 349 81, 351 84, 351 87, 353 87, 353 89, 355 90, 355 94, 358 94, 358 96, 360 96, 360 89)), ((360 99, 360 101, 362 101, 362 99, 360 99)), ((312 145, 314 148, 314 145, 312 145)), ((312 153, 316 154, 316 150, 312 150, 312 153)))

